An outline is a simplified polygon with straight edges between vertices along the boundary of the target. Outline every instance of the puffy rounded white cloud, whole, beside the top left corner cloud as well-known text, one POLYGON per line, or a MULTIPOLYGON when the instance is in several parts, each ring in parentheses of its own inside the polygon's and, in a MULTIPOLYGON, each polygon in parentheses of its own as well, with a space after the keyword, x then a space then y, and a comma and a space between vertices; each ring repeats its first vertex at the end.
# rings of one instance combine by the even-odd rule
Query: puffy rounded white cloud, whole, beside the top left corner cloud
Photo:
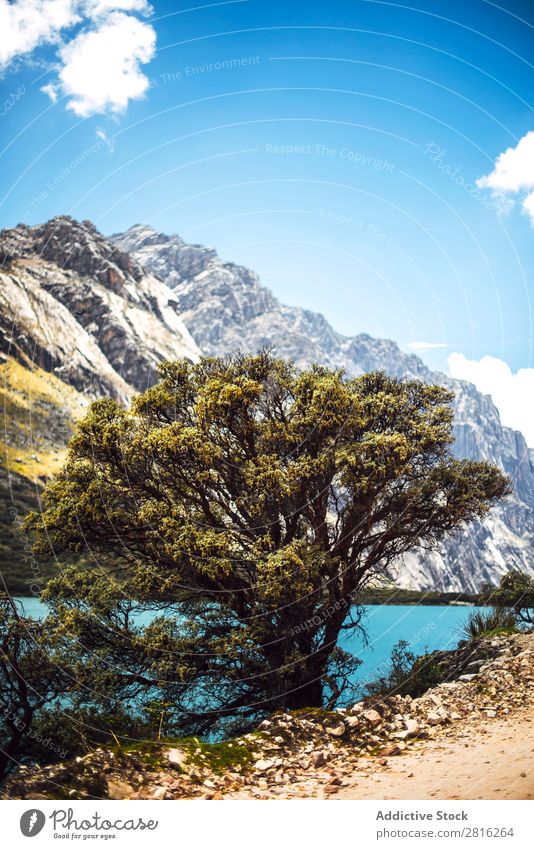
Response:
POLYGON ((69 109, 82 118, 97 112, 121 112, 149 86, 140 65, 155 51, 151 26, 113 12, 96 29, 82 32, 61 48, 59 87, 69 109))

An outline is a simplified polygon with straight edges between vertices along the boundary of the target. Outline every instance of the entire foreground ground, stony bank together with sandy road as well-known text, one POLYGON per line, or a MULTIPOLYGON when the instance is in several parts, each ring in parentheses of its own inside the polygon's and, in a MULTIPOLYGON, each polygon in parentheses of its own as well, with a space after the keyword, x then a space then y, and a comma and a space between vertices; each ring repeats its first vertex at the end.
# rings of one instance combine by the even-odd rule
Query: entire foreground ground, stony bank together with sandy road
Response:
MULTIPOLYGON (((41 769, 22 767, 4 788, 4 798, 405 798, 402 793, 411 792, 406 781, 415 775, 398 764, 416 763, 424 775, 426 762, 434 769, 429 775, 443 779, 451 770, 436 764, 443 762, 447 744, 468 748, 473 735, 484 734, 473 761, 480 778, 487 771, 483 753, 497 751, 492 724, 503 760, 513 764, 522 746, 526 764, 534 746, 534 725, 529 725, 534 634, 487 638, 431 658, 442 683, 419 698, 393 695, 335 712, 279 713, 254 733, 213 746, 187 740, 129 751, 97 750, 41 769), (388 774, 397 782, 390 782, 389 795, 388 774), (385 777, 382 785, 379 776, 385 777), (356 789, 362 778, 375 782, 374 795, 368 788, 356 789)), ((526 779, 522 770, 519 777, 526 779)), ((442 791, 445 795, 436 787, 434 796, 478 798, 470 795, 477 776, 468 778, 465 787, 456 783, 442 791)), ((413 787, 417 795, 412 798, 433 795, 421 780, 413 787)), ((521 793, 508 798, 528 798, 530 790, 521 793)), ((500 797, 506 797, 504 791, 495 796, 500 797)))

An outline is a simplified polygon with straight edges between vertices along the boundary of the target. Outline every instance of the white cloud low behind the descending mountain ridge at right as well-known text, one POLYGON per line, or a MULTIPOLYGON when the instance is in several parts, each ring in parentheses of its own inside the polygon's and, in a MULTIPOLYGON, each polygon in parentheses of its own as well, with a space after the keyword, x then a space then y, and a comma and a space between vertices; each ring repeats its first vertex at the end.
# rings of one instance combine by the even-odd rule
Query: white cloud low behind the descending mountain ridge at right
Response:
POLYGON ((468 360, 463 354, 451 354, 449 373, 474 383, 480 392, 491 395, 504 425, 522 431, 527 444, 534 448, 534 369, 519 369, 515 374, 497 357, 468 360))

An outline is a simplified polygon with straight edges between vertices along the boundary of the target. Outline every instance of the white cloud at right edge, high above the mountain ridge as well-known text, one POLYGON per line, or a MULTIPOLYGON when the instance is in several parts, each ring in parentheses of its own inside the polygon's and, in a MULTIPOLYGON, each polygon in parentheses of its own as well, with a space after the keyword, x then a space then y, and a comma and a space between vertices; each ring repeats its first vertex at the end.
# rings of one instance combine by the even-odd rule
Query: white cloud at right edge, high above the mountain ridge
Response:
POLYGON ((510 194, 524 194, 522 209, 534 226, 534 131, 519 140, 516 147, 509 147, 495 160, 491 174, 476 181, 480 189, 491 189, 498 198, 509 198, 510 194))

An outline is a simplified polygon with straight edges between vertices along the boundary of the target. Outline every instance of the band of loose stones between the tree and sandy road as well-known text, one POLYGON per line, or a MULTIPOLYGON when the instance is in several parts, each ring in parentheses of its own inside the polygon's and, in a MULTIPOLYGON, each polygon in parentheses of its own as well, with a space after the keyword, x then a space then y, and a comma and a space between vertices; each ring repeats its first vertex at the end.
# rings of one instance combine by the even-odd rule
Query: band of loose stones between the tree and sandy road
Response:
POLYGON ((234 741, 236 749, 251 752, 251 763, 235 763, 223 774, 212 771, 200 747, 194 766, 181 748, 162 748, 157 767, 133 753, 119 757, 100 748, 62 764, 21 766, 0 795, 49 798, 59 786, 69 799, 219 799, 236 792, 263 799, 312 798, 320 796, 321 789, 330 796, 353 783, 356 769, 365 775, 377 762, 387 767, 389 757, 417 746, 416 740, 448 734, 456 722, 466 723, 460 728, 467 745, 470 723, 510 714, 532 698, 534 634, 481 640, 436 654, 449 673, 454 672, 454 680, 416 699, 390 695, 328 714, 273 714, 261 723, 259 733, 234 741), (478 656, 485 663, 475 676, 477 686, 459 680, 465 664, 478 656))

